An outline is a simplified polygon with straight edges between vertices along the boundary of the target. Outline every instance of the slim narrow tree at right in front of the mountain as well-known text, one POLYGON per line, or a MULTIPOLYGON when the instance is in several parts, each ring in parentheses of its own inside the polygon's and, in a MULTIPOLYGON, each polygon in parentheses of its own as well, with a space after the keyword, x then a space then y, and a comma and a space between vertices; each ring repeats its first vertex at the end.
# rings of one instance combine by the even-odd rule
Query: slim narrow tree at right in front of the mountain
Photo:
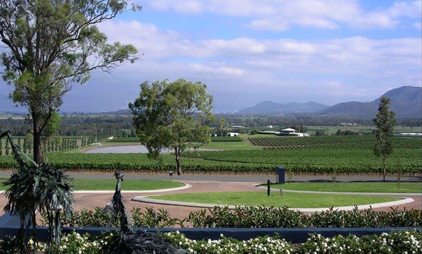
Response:
POLYGON ((373 124, 376 127, 376 143, 373 147, 373 152, 376 157, 380 157, 382 159, 384 182, 386 174, 385 162, 394 151, 391 137, 393 136, 394 127, 397 125, 395 113, 394 111, 390 111, 389 105, 390 99, 382 97, 376 117, 373 119, 373 124))

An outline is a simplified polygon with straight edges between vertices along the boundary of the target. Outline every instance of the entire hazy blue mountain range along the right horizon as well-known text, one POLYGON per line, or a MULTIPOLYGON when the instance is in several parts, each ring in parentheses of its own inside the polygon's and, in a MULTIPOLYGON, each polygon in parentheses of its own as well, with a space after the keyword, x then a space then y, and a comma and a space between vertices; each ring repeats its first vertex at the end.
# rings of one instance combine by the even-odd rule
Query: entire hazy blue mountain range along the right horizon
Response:
POLYGON ((390 98, 390 110, 396 113, 396 118, 422 117, 422 88, 402 86, 391 89, 370 102, 349 101, 331 107, 316 103, 276 103, 263 101, 253 107, 237 111, 236 114, 292 114, 313 113, 320 116, 373 118, 378 110, 381 97, 390 98))

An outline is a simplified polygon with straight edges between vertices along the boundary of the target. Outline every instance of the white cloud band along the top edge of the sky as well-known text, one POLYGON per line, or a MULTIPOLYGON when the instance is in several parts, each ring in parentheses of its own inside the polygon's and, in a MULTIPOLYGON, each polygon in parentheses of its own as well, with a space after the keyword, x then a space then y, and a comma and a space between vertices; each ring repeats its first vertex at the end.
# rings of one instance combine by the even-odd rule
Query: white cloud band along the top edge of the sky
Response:
MULTIPOLYGON (((147 2, 148 4, 148 2, 147 2)), ((365 12, 358 0, 156 0, 151 6, 161 11, 188 15, 204 13, 248 17, 256 30, 283 31, 292 26, 336 29, 392 29, 404 18, 420 19, 421 1, 400 1, 382 10, 365 12)))

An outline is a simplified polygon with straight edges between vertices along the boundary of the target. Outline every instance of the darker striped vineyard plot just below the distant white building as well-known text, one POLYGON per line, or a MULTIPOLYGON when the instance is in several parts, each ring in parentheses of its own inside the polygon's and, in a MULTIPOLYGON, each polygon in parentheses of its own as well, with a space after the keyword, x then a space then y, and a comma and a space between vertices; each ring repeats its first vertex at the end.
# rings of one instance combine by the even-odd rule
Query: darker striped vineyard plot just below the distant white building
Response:
MULTIPOLYGON (((375 136, 253 137, 248 140, 264 149, 372 149, 375 136)), ((393 137, 393 142, 397 148, 422 149, 420 138, 393 137)))

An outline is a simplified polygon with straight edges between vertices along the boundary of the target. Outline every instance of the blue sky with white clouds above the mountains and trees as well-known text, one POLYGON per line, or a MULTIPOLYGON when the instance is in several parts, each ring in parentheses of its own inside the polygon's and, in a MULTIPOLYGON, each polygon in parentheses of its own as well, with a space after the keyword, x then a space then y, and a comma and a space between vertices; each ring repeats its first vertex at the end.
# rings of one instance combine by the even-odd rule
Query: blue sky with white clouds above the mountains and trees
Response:
MULTIPOLYGON (((422 0, 133 0, 98 25, 139 60, 73 85, 62 112, 127 109, 140 84, 201 81, 214 112, 270 100, 331 106, 422 85, 422 0)), ((0 81, 0 111, 25 111, 0 81)))

